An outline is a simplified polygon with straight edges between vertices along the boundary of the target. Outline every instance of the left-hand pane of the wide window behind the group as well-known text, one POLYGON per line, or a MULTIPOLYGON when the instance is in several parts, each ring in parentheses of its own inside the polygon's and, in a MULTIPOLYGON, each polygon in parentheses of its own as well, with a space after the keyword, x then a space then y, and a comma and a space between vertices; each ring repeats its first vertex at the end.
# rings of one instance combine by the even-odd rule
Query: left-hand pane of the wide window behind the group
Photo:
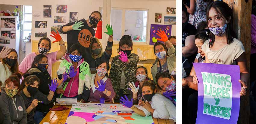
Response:
POLYGON ((122 10, 115 10, 111 9, 111 19, 110 19, 112 28, 113 28, 113 40, 114 41, 119 41, 120 38, 122 37, 122 32, 121 32, 121 26, 122 26, 122 10))

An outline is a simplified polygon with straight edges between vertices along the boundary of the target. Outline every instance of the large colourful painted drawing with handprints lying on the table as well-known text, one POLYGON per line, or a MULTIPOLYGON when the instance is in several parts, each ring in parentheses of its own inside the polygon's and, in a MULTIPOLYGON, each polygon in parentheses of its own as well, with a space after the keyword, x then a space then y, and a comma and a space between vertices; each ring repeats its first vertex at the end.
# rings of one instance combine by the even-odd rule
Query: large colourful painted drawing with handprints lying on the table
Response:
POLYGON ((130 108, 124 108, 122 104, 94 104, 94 103, 77 103, 72 106, 66 120, 67 124, 152 124, 151 116, 143 117, 134 113, 130 108), (86 105, 81 105, 86 104, 86 105), (85 106, 85 107, 83 107, 85 106), (92 107, 94 109, 88 109, 92 107), (80 108, 80 110, 77 110, 80 108), (100 110, 100 109, 105 109, 100 110), (115 110, 116 109, 116 110, 115 110))

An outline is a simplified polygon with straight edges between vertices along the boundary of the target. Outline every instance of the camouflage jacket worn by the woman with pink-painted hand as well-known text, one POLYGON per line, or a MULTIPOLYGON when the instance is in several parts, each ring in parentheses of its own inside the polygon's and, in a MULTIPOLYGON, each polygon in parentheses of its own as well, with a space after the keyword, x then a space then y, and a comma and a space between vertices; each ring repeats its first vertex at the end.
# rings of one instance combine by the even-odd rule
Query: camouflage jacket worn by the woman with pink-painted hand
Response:
POLYGON ((130 53, 128 56, 128 59, 130 63, 124 63, 120 59, 118 59, 120 55, 115 56, 113 58, 113 61, 111 62, 111 69, 109 73, 109 78, 111 79, 112 86, 114 88, 114 91, 116 92, 116 99, 119 96, 119 90, 120 90, 120 81, 121 81, 121 74, 122 70, 125 75, 125 88, 123 91, 123 94, 131 94, 130 90, 127 89, 129 87, 129 82, 135 82, 136 77, 135 77, 135 70, 137 68, 137 64, 139 62, 139 56, 134 53, 130 53))

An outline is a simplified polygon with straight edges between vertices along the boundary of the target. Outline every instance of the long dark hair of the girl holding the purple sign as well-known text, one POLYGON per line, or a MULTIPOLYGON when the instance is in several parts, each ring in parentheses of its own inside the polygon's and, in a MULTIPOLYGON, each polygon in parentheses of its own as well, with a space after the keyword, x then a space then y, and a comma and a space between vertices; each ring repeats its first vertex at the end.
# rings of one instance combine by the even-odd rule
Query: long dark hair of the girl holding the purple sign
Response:
MULTIPOLYGON (((229 5, 223 1, 215 1, 208 5, 207 8, 207 20, 209 18, 209 11, 211 8, 214 8, 218 15, 220 15, 222 18, 225 18, 229 20, 229 23, 227 23, 226 28, 226 36, 227 36, 227 44, 230 44, 233 42, 233 38, 236 37, 235 32, 233 31, 233 11, 229 7, 229 5)), ((208 24, 208 21, 207 21, 208 24)), ((211 42, 209 43, 209 46, 212 47, 214 41, 215 41, 215 35, 211 32, 211 42)))

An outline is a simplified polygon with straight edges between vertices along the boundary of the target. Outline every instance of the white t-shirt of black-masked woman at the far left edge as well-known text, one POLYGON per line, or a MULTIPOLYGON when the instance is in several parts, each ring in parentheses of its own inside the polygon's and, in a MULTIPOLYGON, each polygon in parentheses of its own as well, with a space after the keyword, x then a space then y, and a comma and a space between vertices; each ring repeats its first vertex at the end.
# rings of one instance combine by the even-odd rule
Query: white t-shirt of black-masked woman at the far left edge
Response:
POLYGON ((11 71, 9 70, 9 68, 7 67, 7 65, 6 64, 3 64, 2 62, 0 62, 0 81, 2 81, 2 83, 3 83, 3 85, 1 86, 1 87, 3 87, 3 86, 5 86, 5 80, 9 77, 9 76, 11 76, 11 71), (5 71, 5 69, 6 69, 6 71, 5 71))

